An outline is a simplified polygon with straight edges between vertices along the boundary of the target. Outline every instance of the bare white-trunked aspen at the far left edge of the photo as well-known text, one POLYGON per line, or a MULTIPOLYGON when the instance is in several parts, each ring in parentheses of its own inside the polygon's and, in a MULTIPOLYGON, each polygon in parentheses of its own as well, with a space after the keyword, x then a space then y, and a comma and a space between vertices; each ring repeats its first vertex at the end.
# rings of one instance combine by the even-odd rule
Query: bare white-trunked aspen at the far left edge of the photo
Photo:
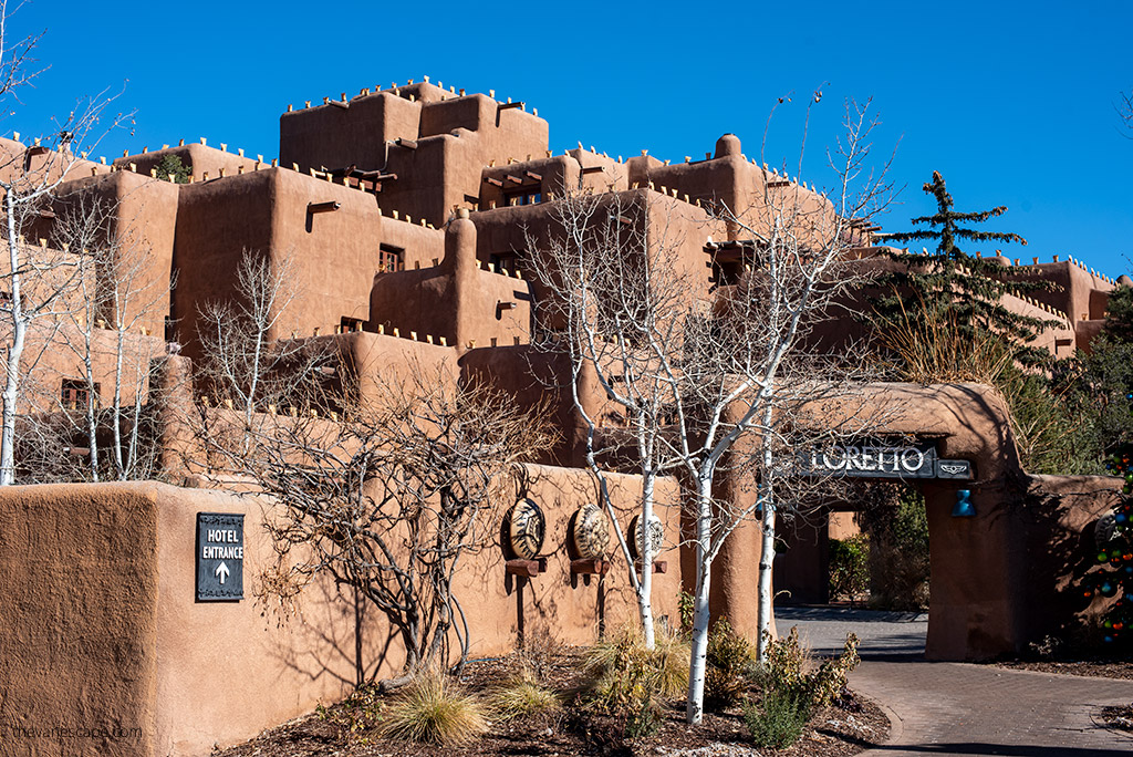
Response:
MULTIPOLYGON (((32 65, 31 53, 39 36, 16 42, 9 33, 14 11, 0 2, 0 99, 14 99, 16 92, 42 73, 32 65)), ((52 193, 63 182, 68 172, 79 162, 76 150, 99 126, 112 99, 103 95, 80 100, 66 118, 54 124, 52 134, 34 139, 34 145, 22 152, 0 158, 0 192, 3 193, 2 212, 7 255, 0 269, 3 301, 0 317, 5 322, 3 354, 5 385, 0 419, 0 485, 15 480, 15 445, 20 392, 27 371, 29 340, 39 345, 37 325, 51 323, 65 312, 62 304, 78 275, 73 255, 48 254, 45 247, 25 244, 24 237, 46 211, 52 193)), ((123 117, 110 119, 110 127, 123 117)), ((33 346, 33 349, 35 347, 33 346)))

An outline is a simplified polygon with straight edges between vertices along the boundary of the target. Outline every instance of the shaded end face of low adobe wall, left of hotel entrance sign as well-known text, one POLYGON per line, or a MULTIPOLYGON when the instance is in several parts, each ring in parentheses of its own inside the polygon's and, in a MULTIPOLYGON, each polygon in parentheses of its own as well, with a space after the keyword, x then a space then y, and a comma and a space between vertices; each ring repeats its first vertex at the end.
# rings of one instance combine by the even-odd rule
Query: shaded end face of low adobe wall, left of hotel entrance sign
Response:
POLYGON ((0 491, 6 755, 58 754, 58 739, 34 735, 53 729, 123 733, 69 739, 70 754, 157 754, 153 490, 104 485, 91 494, 74 485, 0 491))

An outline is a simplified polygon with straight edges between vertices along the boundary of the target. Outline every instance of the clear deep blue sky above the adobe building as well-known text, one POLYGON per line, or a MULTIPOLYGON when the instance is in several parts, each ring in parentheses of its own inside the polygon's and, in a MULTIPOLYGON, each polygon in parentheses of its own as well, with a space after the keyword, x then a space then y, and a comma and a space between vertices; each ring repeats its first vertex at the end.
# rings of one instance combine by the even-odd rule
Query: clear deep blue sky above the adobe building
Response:
POLYGON ((808 143, 821 185, 842 100, 872 97, 876 155, 896 145, 904 186, 886 230, 931 211, 920 187, 939 170, 957 210, 1010 206, 989 228, 1028 238, 1012 257, 1133 267, 1133 141, 1114 110, 1133 87, 1127 2, 34 0, 11 27, 45 32, 36 54, 51 68, 0 128, 35 134, 77 96, 125 85, 136 127, 104 139, 108 158, 202 136, 275 156, 289 102, 427 74, 538 108, 556 151, 581 141, 674 162, 725 131, 757 156, 769 109, 793 93, 766 151, 793 167, 801 104, 821 87, 808 143))

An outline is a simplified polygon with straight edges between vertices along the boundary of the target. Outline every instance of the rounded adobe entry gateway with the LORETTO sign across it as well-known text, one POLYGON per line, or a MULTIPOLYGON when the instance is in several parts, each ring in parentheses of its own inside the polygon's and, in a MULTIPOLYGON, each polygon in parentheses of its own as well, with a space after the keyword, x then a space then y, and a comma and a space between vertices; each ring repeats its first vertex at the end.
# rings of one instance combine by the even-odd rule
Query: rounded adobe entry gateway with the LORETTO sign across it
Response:
MULTIPOLYGON (((871 441, 816 450, 807 465, 900 478, 925 495, 929 660, 1013 654, 1081 622, 1075 577, 1090 564, 1092 524, 1113 507, 1121 479, 1028 475, 1003 400, 980 384, 874 384, 819 414, 828 423, 851 414, 885 420, 871 441), (897 439, 915 441, 885 441, 897 439)), ((727 550, 717 606, 729 618, 756 616, 755 544, 738 538, 727 550)))

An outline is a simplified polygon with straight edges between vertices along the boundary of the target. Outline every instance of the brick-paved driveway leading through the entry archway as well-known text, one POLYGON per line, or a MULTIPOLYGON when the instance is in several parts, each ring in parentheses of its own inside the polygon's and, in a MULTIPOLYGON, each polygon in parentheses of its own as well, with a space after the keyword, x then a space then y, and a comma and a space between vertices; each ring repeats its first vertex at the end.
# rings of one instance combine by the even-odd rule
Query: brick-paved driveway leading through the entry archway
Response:
POLYGON ((781 633, 798 626, 820 654, 850 630, 862 639, 851 686, 894 721, 889 743, 866 757, 1133 754, 1133 738, 1093 720, 1104 705, 1133 701, 1133 681, 925 662, 923 615, 776 607, 776 622, 781 633))

